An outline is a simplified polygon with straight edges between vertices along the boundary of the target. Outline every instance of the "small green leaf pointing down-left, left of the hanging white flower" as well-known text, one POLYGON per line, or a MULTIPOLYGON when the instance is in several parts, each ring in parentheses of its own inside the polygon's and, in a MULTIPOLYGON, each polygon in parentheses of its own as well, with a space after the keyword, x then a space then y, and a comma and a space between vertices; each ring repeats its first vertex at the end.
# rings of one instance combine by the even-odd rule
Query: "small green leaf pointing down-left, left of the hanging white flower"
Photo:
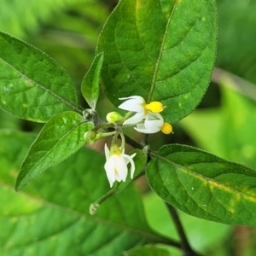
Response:
POLYGON ((20 190, 50 166, 66 160, 84 145, 84 133, 93 129, 92 122, 84 122, 79 113, 55 115, 32 143, 20 167, 15 189, 20 190))

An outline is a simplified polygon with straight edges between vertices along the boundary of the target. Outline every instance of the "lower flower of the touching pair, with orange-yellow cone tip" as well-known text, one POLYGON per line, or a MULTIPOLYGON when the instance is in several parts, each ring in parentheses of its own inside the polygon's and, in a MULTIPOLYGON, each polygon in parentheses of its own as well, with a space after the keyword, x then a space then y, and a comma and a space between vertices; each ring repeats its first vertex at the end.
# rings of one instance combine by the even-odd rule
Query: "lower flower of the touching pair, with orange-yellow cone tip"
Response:
POLYGON ((148 113, 143 124, 137 124, 137 127, 134 128, 136 131, 142 133, 155 133, 162 131, 165 134, 172 133, 172 125, 164 122, 163 117, 160 113, 148 113))

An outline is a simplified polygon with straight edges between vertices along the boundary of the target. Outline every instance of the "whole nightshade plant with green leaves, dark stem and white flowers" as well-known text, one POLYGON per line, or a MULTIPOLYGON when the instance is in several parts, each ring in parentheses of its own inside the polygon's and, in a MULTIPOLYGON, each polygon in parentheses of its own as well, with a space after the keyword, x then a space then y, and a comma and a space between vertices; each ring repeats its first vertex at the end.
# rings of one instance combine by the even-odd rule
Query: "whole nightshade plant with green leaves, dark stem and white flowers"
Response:
MULTIPOLYGON (((31 195, 73 210, 44 209, 50 232, 70 225, 72 236, 56 238, 59 247, 54 241, 38 243, 32 247, 34 255, 168 255, 162 248, 145 246, 158 243, 198 255, 176 208, 224 224, 256 223, 255 171, 198 148, 166 144, 154 151, 148 143, 154 132, 175 136, 172 125, 201 102, 214 66, 216 33, 213 0, 120 0, 84 76, 81 92, 90 108, 83 109, 62 67, 32 45, 0 32, 0 107, 20 119, 45 123, 38 137, 1 131, 1 139, 8 139, 17 152, 33 141, 26 156, 22 151, 25 159, 15 189, 32 182, 26 188, 31 195), (107 120, 100 119, 96 108, 100 85, 119 108, 109 109, 107 120), (141 143, 125 134, 130 126, 142 133, 141 143), (104 137, 111 138, 106 157, 83 148, 104 137), (125 144, 134 148, 131 153, 125 144), (49 168, 53 176, 44 172, 49 168), (148 228, 139 196, 128 186, 143 175, 166 202, 180 241, 148 228), (79 187, 72 183, 77 179, 79 187), (33 183, 44 188, 37 190, 33 183), (61 201, 58 189, 67 200, 61 201), (54 224, 59 218, 61 227, 54 224)), ((10 180, 7 175, 6 183, 10 180)), ((32 202, 26 211, 41 207, 41 202, 32 202)), ((39 224, 34 236, 40 237, 43 229, 39 224)), ((29 238, 22 244, 26 242, 29 238)), ((16 244, 14 237, 8 246, 13 254, 6 255, 21 252, 16 244)))

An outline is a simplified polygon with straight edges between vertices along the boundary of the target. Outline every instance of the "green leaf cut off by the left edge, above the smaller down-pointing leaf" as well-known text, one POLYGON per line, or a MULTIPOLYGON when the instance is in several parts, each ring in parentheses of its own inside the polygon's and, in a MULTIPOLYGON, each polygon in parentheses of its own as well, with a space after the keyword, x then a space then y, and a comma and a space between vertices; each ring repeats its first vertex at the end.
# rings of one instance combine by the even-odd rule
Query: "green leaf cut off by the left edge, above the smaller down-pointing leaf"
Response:
POLYGON ((67 72, 44 52, 0 32, 0 108, 21 119, 47 122, 79 109, 67 72))

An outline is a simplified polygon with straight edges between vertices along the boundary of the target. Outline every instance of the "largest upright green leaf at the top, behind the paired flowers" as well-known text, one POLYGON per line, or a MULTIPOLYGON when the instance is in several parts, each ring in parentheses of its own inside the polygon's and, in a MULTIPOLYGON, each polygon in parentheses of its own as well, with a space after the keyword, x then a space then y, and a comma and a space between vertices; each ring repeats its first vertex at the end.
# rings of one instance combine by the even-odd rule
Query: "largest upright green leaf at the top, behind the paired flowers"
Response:
POLYGON ((99 38, 102 89, 119 97, 161 101, 168 122, 201 102, 216 49, 214 0, 121 0, 99 38))

